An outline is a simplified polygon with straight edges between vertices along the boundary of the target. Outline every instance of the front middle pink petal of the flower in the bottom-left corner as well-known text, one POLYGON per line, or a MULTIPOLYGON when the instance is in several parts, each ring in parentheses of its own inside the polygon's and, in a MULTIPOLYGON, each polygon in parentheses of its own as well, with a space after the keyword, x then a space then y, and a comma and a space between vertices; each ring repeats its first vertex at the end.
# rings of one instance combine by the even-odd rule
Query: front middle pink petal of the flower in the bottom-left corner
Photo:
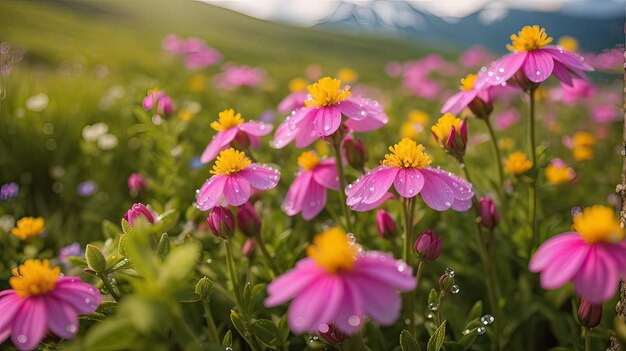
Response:
POLYGON ((24 300, 13 319, 11 341, 19 350, 33 350, 46 334, 47 324, 44 300, 31 296, 24 300))

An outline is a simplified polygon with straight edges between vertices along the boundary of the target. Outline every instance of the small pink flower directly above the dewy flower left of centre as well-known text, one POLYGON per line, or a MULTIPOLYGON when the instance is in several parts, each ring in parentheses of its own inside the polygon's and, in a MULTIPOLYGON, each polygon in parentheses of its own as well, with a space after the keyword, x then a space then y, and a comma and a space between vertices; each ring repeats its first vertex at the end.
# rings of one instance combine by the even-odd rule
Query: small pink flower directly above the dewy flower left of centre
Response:
POLYGON ((200 162, 208 163, 215 159, 217 154, 231 146, 233 141, 241 147, 258 148, 261 146, 261 137, 272 132, 271 124, 264 122, 248 121, 241 118, 235 110, 224 110, 219 114, 219 121, 211 122, 211 128, 217 134, 202 152, 200 162))

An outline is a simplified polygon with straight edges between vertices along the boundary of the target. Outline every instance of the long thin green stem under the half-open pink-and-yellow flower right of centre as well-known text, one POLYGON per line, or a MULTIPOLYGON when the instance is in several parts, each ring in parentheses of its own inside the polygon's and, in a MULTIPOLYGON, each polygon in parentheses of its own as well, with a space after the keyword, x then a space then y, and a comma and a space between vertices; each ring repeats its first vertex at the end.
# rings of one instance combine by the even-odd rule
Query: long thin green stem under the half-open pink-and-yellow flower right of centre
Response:
MULTIPOLYGON (((469 170, 467 169, 467 164, 461 158, 461 168, 465 173, 465 178, 468 182, 472 183, 472 178, 470 177, 469 170)), ((478 253, 480 255, 480 260, 483 265, 483 269, 485 270, 486 279, 485 286, 487 288, 487 298, 489 300, 489 308, 491 309, 491 313, 493 313, 495 322, 495 343, 494 349, 500 350, 500 328, 499 324, 502 322, 500 320, 500 313, 498 310, 498 295, 496 293, 497 289, 495 288, 497 282, 495 279, 495 275, 493 274, 493 266, 491 265, 490 257, 486 250, 485 240, 483 239, 482 229, 480 227, 480 223, 478 222, 478 218, 480 217, 480 204, 478 203, 478 198, 476 195, 472 198, 472 207, 474 208, 474 213, 476 219, 474 220, 474 224, 476 227, 476 239, 478 241, 478 253)))

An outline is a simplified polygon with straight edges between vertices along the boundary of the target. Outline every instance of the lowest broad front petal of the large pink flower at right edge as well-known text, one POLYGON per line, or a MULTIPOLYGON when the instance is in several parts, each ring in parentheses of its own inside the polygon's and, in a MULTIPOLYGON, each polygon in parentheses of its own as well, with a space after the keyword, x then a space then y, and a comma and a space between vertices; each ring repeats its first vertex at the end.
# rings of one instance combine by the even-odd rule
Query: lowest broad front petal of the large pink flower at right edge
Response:
POLYGON ((574 277, 576 293, 593 304, 610 300, 619 286, 619 271, 611 255, 592 245, 587 259, 574 277))

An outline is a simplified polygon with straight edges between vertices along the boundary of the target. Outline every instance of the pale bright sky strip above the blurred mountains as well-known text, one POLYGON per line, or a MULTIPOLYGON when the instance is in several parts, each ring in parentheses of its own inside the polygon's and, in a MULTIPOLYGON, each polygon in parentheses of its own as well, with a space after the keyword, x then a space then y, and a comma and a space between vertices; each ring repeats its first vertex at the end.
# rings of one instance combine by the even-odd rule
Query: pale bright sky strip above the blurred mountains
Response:
MULTIPOLYGON (((278 20, 299 26, 312 26, 330 15, 338 0, 200 0, 245 13, 252 17, 278 20)), ((373 0, 343 0, 352 3, 371 3, 373 0)), ((394 0, 378 0, 384 5, 394 0)), ((465 17, 481 9, 506 11, 525 9, 529 11, 563 11, 578 15, 603 16, 624 11, 625 0, 406 0, 415 8, 429 11, 437 16, 465 17)), ((391 6, 392 7, 392 6, 391 6)), ((390 7, 390 8, 391 8, 390 7)), ((393 14, 390 14, 393 15, 393 14)))

